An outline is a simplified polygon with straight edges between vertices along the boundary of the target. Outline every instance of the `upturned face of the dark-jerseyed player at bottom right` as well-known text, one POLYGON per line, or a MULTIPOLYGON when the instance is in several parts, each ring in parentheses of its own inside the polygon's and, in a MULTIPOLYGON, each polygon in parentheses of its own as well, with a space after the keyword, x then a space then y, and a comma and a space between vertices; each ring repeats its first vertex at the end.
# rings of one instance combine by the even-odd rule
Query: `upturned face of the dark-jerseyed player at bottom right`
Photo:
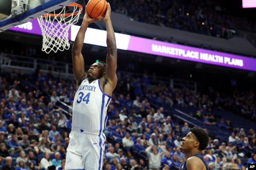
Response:
POLYGON ((195 144, 198 144, 197 137, 194 133, 187 133, 186 137, 182 138, 182 144, 180 145, 180 150, 186 152, 187 150, 191 150, 195 147, 195 144))

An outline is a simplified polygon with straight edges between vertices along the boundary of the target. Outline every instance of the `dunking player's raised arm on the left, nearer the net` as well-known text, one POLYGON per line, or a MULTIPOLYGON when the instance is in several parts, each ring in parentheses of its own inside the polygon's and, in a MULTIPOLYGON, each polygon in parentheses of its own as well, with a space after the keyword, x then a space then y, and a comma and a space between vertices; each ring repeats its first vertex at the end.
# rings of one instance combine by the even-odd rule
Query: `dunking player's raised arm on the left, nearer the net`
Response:
POLYGON ((85 15, 83 16, 82 25, 76 35, 76 39, 72 46, 72 60, 73 60, 73 73, 76 79, 76 84, 79 85, 80 81, 85 78, 86 73, 84 70, 84 60, 82 55, 83 41, 85 38, 85 32, 92 22, 95 22, 100 19, 90 18, 86 12, 85 7, 85 15))

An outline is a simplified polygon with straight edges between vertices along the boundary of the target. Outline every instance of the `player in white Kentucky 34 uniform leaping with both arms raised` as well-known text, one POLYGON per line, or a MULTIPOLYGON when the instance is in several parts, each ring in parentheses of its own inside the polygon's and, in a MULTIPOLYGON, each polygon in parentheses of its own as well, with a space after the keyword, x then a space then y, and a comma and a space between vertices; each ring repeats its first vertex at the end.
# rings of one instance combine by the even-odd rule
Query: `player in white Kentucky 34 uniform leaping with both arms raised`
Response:
POLYGON ((67 148, 65 170, 102 170, 105 150, 103 130, 107 121, 107 107, 117 85, 117 46, 110 20, 111 8, 104 18, 107 30, 106 64, 97 62, 84 71, 81 53, 85 32, 97 20, 85 11, 82 25, 72 47, 73 72, 77 91, 73 102, 72 130, 67 148))

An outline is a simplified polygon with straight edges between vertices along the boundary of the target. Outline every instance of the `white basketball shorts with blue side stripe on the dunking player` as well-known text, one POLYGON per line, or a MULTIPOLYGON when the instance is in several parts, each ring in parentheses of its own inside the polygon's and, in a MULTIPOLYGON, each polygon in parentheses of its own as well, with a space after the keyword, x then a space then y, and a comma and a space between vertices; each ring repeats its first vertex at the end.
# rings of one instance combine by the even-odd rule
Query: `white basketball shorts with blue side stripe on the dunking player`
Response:
POLYGON ((102 170, 106 139, 104 133, 72 128, 69 138, 65 170, 102 170))

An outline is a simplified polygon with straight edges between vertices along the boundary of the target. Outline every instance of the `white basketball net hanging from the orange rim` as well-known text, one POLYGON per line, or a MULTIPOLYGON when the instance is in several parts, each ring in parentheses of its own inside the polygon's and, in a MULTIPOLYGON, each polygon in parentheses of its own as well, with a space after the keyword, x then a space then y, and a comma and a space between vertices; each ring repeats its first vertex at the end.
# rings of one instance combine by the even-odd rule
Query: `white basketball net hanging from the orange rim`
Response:
MULTIPOLYGON (((47 15, 45 17, 39 16, 37 21, 41 27, 43 35, 43 47, 42 51, 45 51, 47 54, 51 51, 55 53, 59 51, 64 51, 69 49, 69 28, 72 24, 76 24, 79 19, 79 15, 82 12, 82 9, 78 9, 77 5, 74 6, 74 10, 70 16, 63 16, 65 14, 66 7, 63 7, 61 12, 55 14, 55 16, 47 15), (77 15, 74 15, 74 12, 78 11, 77 15)), ((69 12, 70 13, 70 12, 69 12)))

